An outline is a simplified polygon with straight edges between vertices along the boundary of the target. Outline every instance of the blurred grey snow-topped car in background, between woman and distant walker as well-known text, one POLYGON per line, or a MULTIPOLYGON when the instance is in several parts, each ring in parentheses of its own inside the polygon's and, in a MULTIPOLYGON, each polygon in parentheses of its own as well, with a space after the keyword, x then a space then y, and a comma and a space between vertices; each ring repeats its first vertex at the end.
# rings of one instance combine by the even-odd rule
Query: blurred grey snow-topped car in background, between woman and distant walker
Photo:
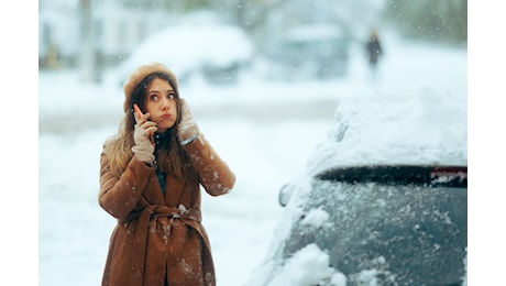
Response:
POLYGON ((339 78, 346 74, 349 40, 340 26, 311 24, 290 28, 283 33, 276 52, 272 78, 339 78))

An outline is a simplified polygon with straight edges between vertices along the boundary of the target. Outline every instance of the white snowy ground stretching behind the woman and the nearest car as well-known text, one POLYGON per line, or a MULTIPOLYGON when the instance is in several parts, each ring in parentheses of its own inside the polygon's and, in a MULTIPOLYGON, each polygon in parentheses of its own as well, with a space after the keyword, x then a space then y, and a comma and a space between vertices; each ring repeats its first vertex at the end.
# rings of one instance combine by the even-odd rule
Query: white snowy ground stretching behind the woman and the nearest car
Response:
MULTIPOLYGON (((263 262, 283 215, 277 194, 304 174, 326 140, 343 96, 419 95, 431 88, 466 98, 466 51, 385 42, 376 84, 362 54, 350 76, 336 81, 268 82, 255 77, 234 87, 182 87, 198 121, 238 177, 228 196, 202 196, 218 285, 245 285, 263 262)), ((77 75, 38 75, 38 283, 99 285, 114 219, 97 201, 99 153, 116 132, 122 91, 105 82, 81 86, 77 75)), ((257 286, 257 285, 251 285, 257 286)))

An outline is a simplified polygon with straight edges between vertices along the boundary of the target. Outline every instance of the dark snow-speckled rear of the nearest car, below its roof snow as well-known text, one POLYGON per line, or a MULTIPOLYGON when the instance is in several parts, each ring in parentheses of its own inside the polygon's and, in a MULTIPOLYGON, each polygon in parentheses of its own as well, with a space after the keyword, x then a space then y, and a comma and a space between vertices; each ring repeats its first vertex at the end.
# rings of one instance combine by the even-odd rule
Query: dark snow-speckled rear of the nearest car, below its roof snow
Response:
POLYGON ((459 284, 466 272, 466 190, 465 166, 322 173, 311 180, 282 255, 288 260, 316 243, 348 285, 361 285, 365 271, 375 271, 381 285, 459 284), (328 213, 328 220, 305 222, 315 211, 328 213))

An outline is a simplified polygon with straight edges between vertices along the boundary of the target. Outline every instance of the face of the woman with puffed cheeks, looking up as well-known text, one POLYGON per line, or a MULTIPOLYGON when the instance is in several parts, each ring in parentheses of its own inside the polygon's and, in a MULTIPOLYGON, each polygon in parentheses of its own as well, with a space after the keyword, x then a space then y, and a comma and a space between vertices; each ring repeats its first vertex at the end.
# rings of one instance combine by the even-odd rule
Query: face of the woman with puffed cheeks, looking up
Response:
POLYGON ((150 120, 156 122, 158 132, 165 132, 176 123, 176 92, 167 80, 156 77, 150 82, 144 105, 150 120))

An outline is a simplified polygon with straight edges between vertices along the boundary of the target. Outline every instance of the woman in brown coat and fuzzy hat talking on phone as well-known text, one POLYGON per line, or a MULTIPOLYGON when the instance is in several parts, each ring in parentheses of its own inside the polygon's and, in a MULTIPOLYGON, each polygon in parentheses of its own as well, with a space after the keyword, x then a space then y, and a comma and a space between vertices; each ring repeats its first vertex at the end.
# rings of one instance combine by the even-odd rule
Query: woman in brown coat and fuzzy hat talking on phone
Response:
POLYGON ((118 219, 102 285, 216 285, 200 185, 220 196, 235 176, 164 65, 139 67, 124 95, 125 117, 100 155, 99 204, 118 219))

